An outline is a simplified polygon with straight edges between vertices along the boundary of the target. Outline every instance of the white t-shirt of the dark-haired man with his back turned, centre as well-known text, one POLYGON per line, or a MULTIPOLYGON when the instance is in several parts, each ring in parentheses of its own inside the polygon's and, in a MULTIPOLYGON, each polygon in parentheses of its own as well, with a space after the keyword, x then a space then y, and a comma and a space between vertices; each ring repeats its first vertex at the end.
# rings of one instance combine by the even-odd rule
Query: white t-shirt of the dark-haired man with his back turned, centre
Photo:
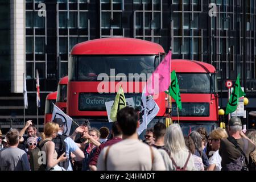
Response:
POLYGON ((109 148, 107 156, 107 169, 105 167, 105 152, 109 147, 104 147, 98 158, 98 171, 162 171, 166 170, 164 161, 159 151, 152 147, 154 160, 152 163, 150 146, 138 139, 124 139, 109 148))

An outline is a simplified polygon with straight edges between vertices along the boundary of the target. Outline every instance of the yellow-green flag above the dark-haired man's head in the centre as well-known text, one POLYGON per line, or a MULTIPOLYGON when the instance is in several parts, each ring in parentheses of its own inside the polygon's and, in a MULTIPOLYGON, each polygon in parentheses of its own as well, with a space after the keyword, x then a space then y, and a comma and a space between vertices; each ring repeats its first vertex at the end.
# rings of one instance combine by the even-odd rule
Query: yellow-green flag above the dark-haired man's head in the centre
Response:
POLYGON ((123 109, 124 107, 126 107, 125 94, 123 93, 122 86, 120 85, 117 95, 115 96, 115 101, 111 107, 110 119, 116 121, 117 112, 123 109))

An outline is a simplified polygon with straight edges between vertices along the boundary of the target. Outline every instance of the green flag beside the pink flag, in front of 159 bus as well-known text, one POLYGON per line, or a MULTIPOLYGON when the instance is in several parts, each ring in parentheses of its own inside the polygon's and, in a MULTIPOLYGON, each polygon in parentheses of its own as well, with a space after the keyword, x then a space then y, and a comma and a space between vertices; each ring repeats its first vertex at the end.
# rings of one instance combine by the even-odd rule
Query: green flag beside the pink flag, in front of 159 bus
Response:
POLYGON ((176 101, 177 107, 182 109, 181 98, 180 98, 180 87, 179 82, 177 81, 177 76, 175 70, 171 73, 171 85, 169 86, 169 94, 176 101))

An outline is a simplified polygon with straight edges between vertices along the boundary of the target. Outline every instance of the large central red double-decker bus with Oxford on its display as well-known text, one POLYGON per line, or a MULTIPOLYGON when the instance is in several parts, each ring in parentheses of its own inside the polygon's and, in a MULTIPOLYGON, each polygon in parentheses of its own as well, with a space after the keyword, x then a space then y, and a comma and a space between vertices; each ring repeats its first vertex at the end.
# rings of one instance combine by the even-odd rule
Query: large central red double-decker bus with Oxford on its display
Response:
MULTIPOLYGON (((96 127, 110 126, 105 102, 114 100, 122 84, 125 97, 132 97, 135 107, 140 107, 146 83, 140 75, 154 72, 163 56, 162 46, 140 39, 104 38, 77 44, 68 65, 68 115, 77 122, 89 119, 96 127), (102 79, 102 74, 108 79, 102 79), (99 93, 102 83, 105 92, 99 93)), ((156 118, 164 116, 164 97, 160 94, 156 100, 160 107, 156 118)))

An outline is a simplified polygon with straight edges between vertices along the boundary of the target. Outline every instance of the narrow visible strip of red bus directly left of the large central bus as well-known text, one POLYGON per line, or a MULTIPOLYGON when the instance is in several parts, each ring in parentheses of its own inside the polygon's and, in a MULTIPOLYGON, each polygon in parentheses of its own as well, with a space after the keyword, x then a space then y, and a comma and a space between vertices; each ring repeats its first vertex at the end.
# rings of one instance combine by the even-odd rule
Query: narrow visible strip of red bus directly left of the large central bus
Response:
POLYGON ((67 90, 68 90, 68 76, 60 79, 57 88, 56 106, 64 113, 67 113, 67 90))

